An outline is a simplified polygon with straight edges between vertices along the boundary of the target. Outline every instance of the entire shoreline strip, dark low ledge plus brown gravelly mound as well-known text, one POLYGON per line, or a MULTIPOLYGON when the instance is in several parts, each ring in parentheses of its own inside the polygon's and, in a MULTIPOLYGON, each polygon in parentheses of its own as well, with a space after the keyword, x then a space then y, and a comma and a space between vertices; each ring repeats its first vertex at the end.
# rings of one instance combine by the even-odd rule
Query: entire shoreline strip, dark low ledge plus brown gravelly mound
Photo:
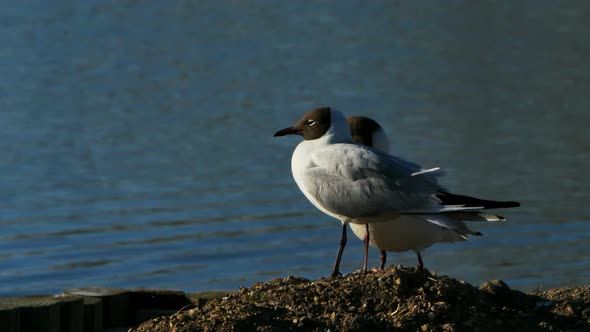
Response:
POLYGON ((0 298, 0 331, 588 331, 590 286, 524 293, 408 267, 234 291, 84 287, 0 298))

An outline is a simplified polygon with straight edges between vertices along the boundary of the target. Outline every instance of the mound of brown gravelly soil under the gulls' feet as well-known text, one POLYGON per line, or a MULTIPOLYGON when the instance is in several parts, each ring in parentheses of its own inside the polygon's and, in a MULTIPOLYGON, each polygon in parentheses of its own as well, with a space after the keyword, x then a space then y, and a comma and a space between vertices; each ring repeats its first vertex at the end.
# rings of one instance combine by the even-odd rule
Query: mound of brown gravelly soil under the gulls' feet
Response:
POLYGON ((590 331, 590 286, 525 294, 398 266, 257 283, 131 331, 590 331))

